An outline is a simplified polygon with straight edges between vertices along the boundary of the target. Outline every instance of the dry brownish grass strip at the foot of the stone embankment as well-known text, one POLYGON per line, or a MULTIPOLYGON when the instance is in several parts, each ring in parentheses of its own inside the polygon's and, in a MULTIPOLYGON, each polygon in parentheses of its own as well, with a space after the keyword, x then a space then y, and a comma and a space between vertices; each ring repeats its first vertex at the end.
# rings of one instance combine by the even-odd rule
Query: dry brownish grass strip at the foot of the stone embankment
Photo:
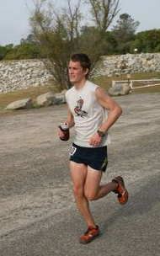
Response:
MULTIPOLYGON (((160 79, 160 72, 150 72, 150 73, 135 73, 131 74, 131 80, 141 80, 141 79, 160 79)), ((104 87, 106 91, 112 86, 112 80, 127 80, 126 74, 120 76, 99 76, 93 77, 91 79, 93 83, 97 83, 100 86, 104 87)), ((19 90, 10 93, 0 94, 0 114, 14 113, 15 111, 5 110, 8 104, 19 99, 33 99, 34 107, 36 108, 36 98, 43 93, 51 91, 52 93, 58 93, 58 90, 55 85, 45 86, 45 87, 36 87, 36 88, 27 88, 24 90, 19 90)), ((132 93, 160 93, 160 85, 148 88, 138 88, 133 89, 132 93)))

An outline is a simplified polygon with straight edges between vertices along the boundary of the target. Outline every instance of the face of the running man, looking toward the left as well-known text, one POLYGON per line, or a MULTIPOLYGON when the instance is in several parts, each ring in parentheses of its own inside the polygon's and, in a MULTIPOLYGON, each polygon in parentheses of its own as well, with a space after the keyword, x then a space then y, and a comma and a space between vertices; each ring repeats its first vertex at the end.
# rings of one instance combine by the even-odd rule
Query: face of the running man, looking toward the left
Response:
POLYGON ((69 61, 68 73, 71 83, 81 83, 88 73, 88 68, 83 70, 83 67, 81 67, 81 64, 78 61, 69 61))

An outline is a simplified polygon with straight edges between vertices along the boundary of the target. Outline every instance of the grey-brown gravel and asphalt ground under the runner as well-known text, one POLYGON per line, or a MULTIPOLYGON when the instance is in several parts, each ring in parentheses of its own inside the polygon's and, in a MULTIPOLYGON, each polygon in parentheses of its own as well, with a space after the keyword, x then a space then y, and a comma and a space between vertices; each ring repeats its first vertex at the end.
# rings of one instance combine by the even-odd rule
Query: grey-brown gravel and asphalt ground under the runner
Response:
POLYGON ((101 236, 88 245, 77 240, 85 225, 72 198, 70 142, 55 135, 66 106, 0 117, 1 256, 160 255, 159 96, 117 98, 124 112, 110 131, 103 182, 122 174, 130 200, 121 206, 110 194, 92 202, 101 236))

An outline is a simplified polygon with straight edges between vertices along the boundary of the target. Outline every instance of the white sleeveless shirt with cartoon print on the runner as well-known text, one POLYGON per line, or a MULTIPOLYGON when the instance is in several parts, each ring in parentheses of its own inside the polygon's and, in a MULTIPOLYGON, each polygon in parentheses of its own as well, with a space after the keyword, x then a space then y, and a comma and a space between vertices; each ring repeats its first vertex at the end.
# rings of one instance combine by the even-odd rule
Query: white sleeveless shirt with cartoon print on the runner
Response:
MULTIPOLYGON (((81 147, 93 147, 89 145, 89 141, 108 117, 107 110, 99 104, 95 96, 98 87, 87 80, 83 88, 77 90, 73 86, 66 93, 67 104, 75 122, 74 143, 81 147)), ((106 134, 99 147, 104 147, 109 143, 109 134, 106 134)))

